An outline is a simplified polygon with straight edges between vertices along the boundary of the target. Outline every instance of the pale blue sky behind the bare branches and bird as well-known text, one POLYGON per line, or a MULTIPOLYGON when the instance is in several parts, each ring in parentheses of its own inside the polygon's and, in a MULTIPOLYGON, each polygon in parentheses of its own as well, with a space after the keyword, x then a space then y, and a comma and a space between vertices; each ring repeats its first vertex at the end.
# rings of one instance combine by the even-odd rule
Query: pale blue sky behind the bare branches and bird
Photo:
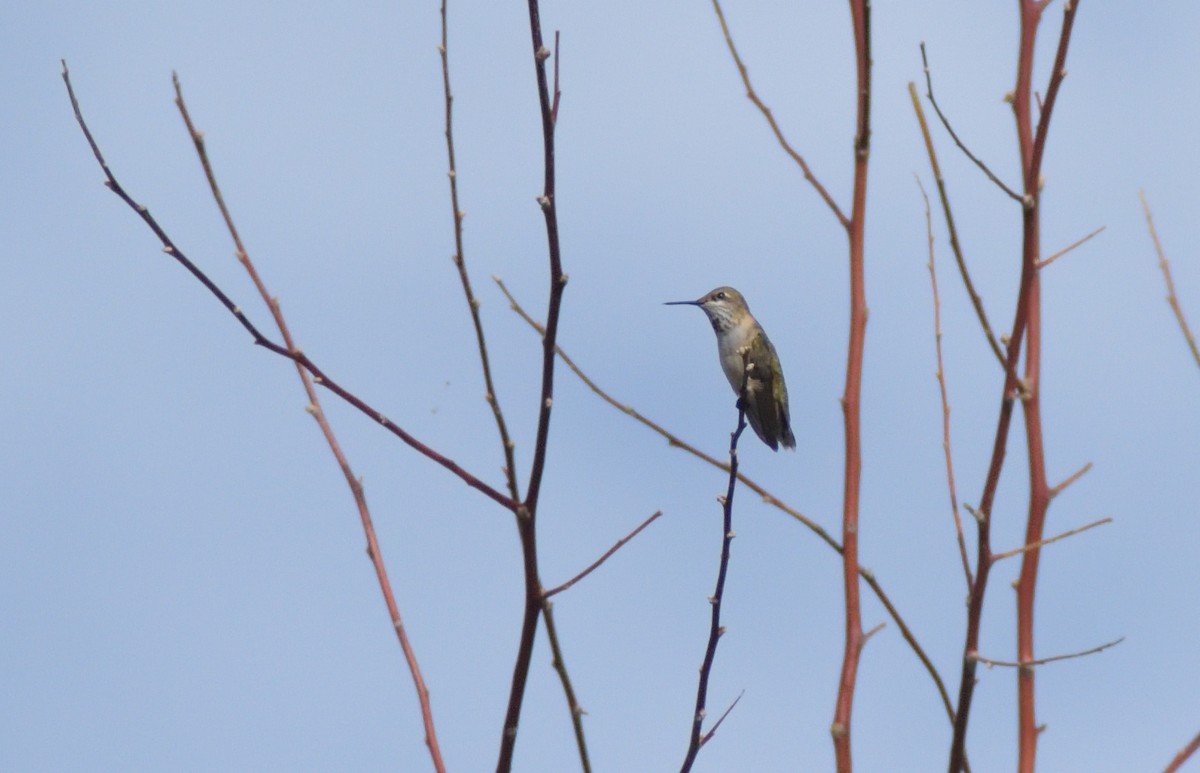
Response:
MULTIPOLYGON (((844 205, 853 132, 845 2, 734 2, 761 95, 844 205)), ((540 349, 488 277, 544 314, 541 151, 523 4, 452 2, 466 257, 528 475, 540 349)), ((740 288, 782 358, 796 453, 751 436, 744 471, 839 532, 844 233, 745 100, 707 2, 545 2, 562 30, 560 342, 613 395, 714 454, 733 396, 702 314, 740 288)), ((1046 14, 1044 84, 1061 19, 1046 14)), ((1079 12, 1045 160, 1043 247, 1108 230, 1044 276, 1048 466, 1094 471, 1048 534, 1037 651, 1126 636, 1038 671, 1040 768, 1160 771, 1200 730, 1200 372, 1164 302, 1145 188, 1200 324, 1200 6, 1079 12)), ((416 700, 341 473, 293 368, 242 329, 101 185, 59 78, 66 58, 119 179, 264 329, 172 104, 178 70, 227 200, 298 341, 341 383, 493 485, 499 443, 449 260, 437 4, 22 2, 0 12, 0 769, 424 771, 416 700)), ((1016 185, 1003 94, 1016 4, 878 0, 866 270, 862 557, 956 689, 965 587, 934 379, 931 180, 905 85, 929 44, 956 128, 1016 185)), ((1043 86, 1044 88, 1044 86, 1043 86)), ((967 258, 1012 324, 1018 209, 936 140, 967 258)), ((960 498, 978 503, 1001 373, 935 220, 960 498)), ((517 643, 511 516, 332 395, 455 771, 494 766, 517 643)), ((557 585, 665 517, 556 600, 598 771, 676 769, 695 700, 725 477, 560 370, 541 505, 557 585)), ((994 545, 1024 531, 1020 423, 994 545)), ((836 556, 738 496, 709 694, 740 705, 697 771, 828 771, 842 647, 836 556)), ((970 535, 973 544, 973 532, 970 535)), ((973 551, 972 551, 973 555, 973 551)), ((1000 564, 984 654, 1015 658, 1019 563, 1000 564)), ((864 587, 864 627, 887 619, 864 587)), ((1015 761, 1015 675, 980 670, 976 773, 1015 761)), ((949 723, 894 625, 863 653, 860 771, 937 771, 949 723)), ((577 769, 539 634, 521 771, 577 769)), ((1200 769, 1193 760, 1190 768, 1200 769)))

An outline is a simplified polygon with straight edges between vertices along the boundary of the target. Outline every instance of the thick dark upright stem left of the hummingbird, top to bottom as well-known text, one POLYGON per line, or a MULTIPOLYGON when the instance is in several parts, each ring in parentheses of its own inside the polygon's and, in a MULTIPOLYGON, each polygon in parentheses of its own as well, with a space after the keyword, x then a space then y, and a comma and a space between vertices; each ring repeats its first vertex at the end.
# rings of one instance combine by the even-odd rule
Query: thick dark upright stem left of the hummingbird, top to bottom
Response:
MULTIPOLYGON (((529 660, 533 655, 534 635, 541 617, 541 577, 538 569, 538 501, 541 496, 541 479, 546 469, 546 450, 550 441, 550 418, 554 405, 554 342, 558 337, 558 317, 563 304, 566 274, 563 272, 562 251, 558 238, 558 205, 554 199, 554 122, 557 116, 546 77, 546 60, 550 49, 541 36, 541 12, 538 0, 528 0, 529 38, 533 48, 534 74, 538 84, 538 103, 541 112, 544 182, 538 204, 546 221, 546 251, 550 258, 550 299, 546 310, 546 331, 542 335, 541 396, 538 411, 538 431, 534 441, 533 463, 524 499, 517 509, 517 533, 524 568, 524 613, 521 621, 521 639, 516 661, 512 666, 512 685, 509 690, 508 709, 504 714, 504 731, 500 733, 500 751, 496 763, 497 773, 512 768, 521 706, 524 701, 526 683, 529 678, 529 660)), ((557 86, 556 86, 557 89, 557 86)), ((550 625, 547 621, 547 625, 550 625)), ((565 673, 562 672, 562 673, 565 673)), ((565 687, 565 679, 564 679, 565 687)), ((583 749, 581 747, 581 754, 583 749)))

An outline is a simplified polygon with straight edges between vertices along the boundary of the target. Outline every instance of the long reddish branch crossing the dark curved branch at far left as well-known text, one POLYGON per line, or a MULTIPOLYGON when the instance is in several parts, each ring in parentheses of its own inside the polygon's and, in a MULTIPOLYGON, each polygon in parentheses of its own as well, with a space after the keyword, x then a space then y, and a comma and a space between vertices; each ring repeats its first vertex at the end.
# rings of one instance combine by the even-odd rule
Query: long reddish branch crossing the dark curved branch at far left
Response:
MULTIPOLYGON (((66 65, 64 65, 64 77, 66 65)), ((266 307, 270 310, 271 316, 275 319, 275 324, 280 330, 280 335, 283 336, 283 342, 288 348, 288 352, 295 353, 298 348, 292 338, 292 331, 288 328, 287 320, 283 318, 283 312, 280 308, 278 300, 272 298, 270 292, 266 289, 265 282, 258 274, 258 269, 254 263, 250 259, 250 253, 246 251, 245 245, 241 241, 241 235, 238 233, 238 227, 233 222, 233 216, 229 212, 229 208, 226 206, 224 196, 221 193, 221 186, 217 185, 216 174, 212 170, 212 164, 209 161, 209 154, 204 143, 204 134, 198 131, 192 122, 192 116, 187 110, 187 103, 184 101, 184 91, 179 83, 179 76, 172 74, 172 83, 175 86, 175 106, 179 108, 179 113, 184 119, 184 125, 187 127, 188 137, 192 139, 192 144, 196 146, 196 152, 199 156, 200 166, 204 169, 204 176, 209 182, 209 190, 212 192, 212 198, 216 200, 217 209, 221 211, 221 217, 224 220, 226 228, 229 230, 229 236, 233 239, 234 248, 236 251, 238 260, 242 264, 246 271, 250 274, 254 287, 258 289, 259 296, 266 307)), ((70 80, 68 80, 70 88, 70 80)), ((317 420, 317 425, 320 429, 322 436, 325 438, 330 451, 334 454, 334 459, 337 461, 337 466, 342 471, 342 475, 346 478, 346 483, 350 489, 350 493, 354 497, 355 505, 359 510, 359 520, 362 523, 362 532, 367 540, 367 556, 371 559, 371 564, 376 571, 376 579, 379 582, 379 591, 383 593, 384 603, 388 606, 388 615, 391 618, 392 629, 396 631, 396 637, 400 641, 401 651, 404 654, 404 660, 408 664, 408 671, 413 678, 413 687, 416 690, 418 702, 421 707, 421 720, 425 725, 425 745, 430 750, 430 756, 432 757, 433 767, 439 773, 444 773, 445 762, 442 760, 442 750, 438 745, 437 730, 433 725, 433 709, 430 703, 430 690, 425 685, 425 678, 421 675, 421 669, 416 663, 416 652, 413 649, 412 643, 408 640, 408 631, 404 628, 403 619, 400 616, 400 607, 396 604, 396 597, 391 591, 391 581, 388 579, 388 569, 383 561, 383 551, 379 547, 379 540, 376 535, 374 523, 371 519, 371 511, 367 508, 366 495, 362 490, 362 483, 354 475, 350 469, 350 463, 346 459, 342 451, 341 444, 334 435, 334 429, 330 426, 328 418, 325 417, 325 411, 320 406, 320 399, 317 396, 317 388, 312 383, 312 377, 308 371, 304 368, 299 362, 295 362, 296 374, 300 377, 301 385, 304 386, 305 394, 308 397, 308 413, 317 420)))

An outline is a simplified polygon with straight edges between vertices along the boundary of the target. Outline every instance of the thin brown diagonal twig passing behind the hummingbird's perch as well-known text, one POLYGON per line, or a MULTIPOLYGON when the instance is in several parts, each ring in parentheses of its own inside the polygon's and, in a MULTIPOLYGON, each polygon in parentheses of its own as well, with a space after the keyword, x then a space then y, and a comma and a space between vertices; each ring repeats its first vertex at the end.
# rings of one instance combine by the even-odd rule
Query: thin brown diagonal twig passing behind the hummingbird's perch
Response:
MULTIPOLYGON (((534 319, 532 316, 529 316, 529 312, 527 312, 521 306, 521 304, 512 295, 512 293, 509 292, 509 288, 504 286, 504 282, 499 277, 496 277, 496 276, 493 276, 492 280, 500 288, 500 292, 504 293, 505 298, 508 298, 509 304, 510 304, 512 311, 518 317, 521 317, 526 322, 526 324, 528 324, 534 331, 536 331, 540 335, 544 335, 544 328, 541 326, 541 323, 539 323, 536 319, 534 319)), ((730 472, 730 466, 728 466, 727 462, 722 462, 722 461, 720 461, 720 460, 718 460, 718 459, 715 459, 715 457, 706 454, 704 451, 700 450, 695 445, 692 445, 692 444, 690 444, 690 443, 680 439, 677 435, 674 435, 671 431, 664 429, 661 425, 659 425, 654 420, 648 419, 647 417, 642 415, 632 406, 623 403, 623 402, 618 401, 616 397, 613 397, 612 395, 610 395, 599 384, 596 384, 592 379, 592 377, 589 377, 586 372, 583 372, 583 370, 575 362, 575 360, 572 360, 570 358, 569 354, 566 354, 565 350, 563 350, 562 347, 556 346, 554 350, 558 353, 558 356, 562 358, 562 360, 566 365, 566 367, 570 368, 570 371, 572 373, 575 373, 575 376, 578 377, 578 379, 582 380, 587 385, 588 389, 590 389, 593 393, 595 393, 606 403, 608 403, 610 406, 612 406, 613 408, 616 408, 617 411, 619 411, 620 413, 624 413, 625 415, 632 418, 634 420, 636 420, 637 423, 642 424, 643 426, 649 427, 656 435, 659 435, 660 437, 662 437, 664 439, 666 439, 666 442, 667 442, 668 445, 671 445, 673 448, 678 448, 678 449, 680 449, 683 451, 686 451, 688 454, 691 454, 696 459, 700 459, 700 460, 702 460, 702 461, 712 465, 713 467, 716 467, 718 469, 721 469, 721 471, 724 471, 726 473, 730 472)), ((839 555, 841 553, 841 543, 839 543, 836 539, 834 539, 833 537, 830 537, 829 532, 827 532, 824 529, 824 527, 822 527, 820 523, 817 523, 812 519, 808 517, 806 515, 804 515, 803 513, 800 513, 796 508, 788 505, 786 502, 784 502, 782 499, 780 499, 775 495, 773 495, 769 491, 767 491, 762 485, 760 485, 757 481, 752 480, 751 478, 746 477, 744 473, 738 472, 738 480, 744 486, 746 486, 748 489, 750 489, 751 491, 754 491, 756 495, 758 495, 760 497, 762 497, 762 501, 766 504, 769 504, 769 505, 779 509, 780 511, 786 513, 788 516, 791 516, 792 519, 794 519, 799 523, 804 525, 804 527, 808 528, 810 532, 812 532, 814 534, 816 534, 817 538, 821 539, 822 543, 824 543, 826 545, 828 545, 830 549, 833 549, 834 551, 836 551, 839 555)), ((946 683, 942 681, 941 673, 937 672, 937 667, 934 665, 934 661, 929 658, 929 655, 922 648, 920 642, 917 641, 917 637, 912 633, 912 629, 908 628, 907 623, 905 623, 905 619, 904 619, 904 617, 901 617, 900 611, 896 610, 895 605, 892 604, 892 599, 883 591, 883 586, 880 585, 878 577, 876 577, 875 574, 870 569, 868 569, 865 567, 859 567, 858 574, 866 582, 866 585, 870 586, 871 591, 875 592, 875 595, 880 599, 880 603, 883 604, 883 607, 888 611, 888 615, 890 615, 892 619, 895 622, 896 629, 900 631, 900 635, 908 643, 908 647, 913 651, 913 654, 917 655, 917 658, 920 660, 922 665, 925 667, 925 671, 929 673, 929 677, 934 681, 934 687, 937 688, 937 694, 938 694, 938 696, 942 700, 942 706, 946 709, 946 714, 947 714, 947 717, 949 717, 950 721, 953 723, 954 721, 954 705, 950 702, 950 694, 949 694, 949 691, 946 688, 946 683)))

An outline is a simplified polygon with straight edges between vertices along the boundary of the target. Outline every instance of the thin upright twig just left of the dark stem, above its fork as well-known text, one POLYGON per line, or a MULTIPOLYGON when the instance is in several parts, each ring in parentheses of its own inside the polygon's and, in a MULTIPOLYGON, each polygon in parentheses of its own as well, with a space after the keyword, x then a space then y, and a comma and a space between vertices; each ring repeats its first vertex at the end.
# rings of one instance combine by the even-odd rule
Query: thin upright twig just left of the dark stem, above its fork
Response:
POLYGON ((438 53, 442 55, 442 88, 445 97, 445 137, 446 157, 450 166, 448 176, 450 178, 450 211, 454 217, 454 264, 458 269, 458 280, 462 282, 462 292, 467 298, 467 308, 470 311, 470 322, 475 329, 475 343, 479 347, 479 361, 484 368, 484 386, 487 389, 485 399, 492 408, 492 417, 496 419, 496 429, 500 433, 500 445, 504 449, 504 479, 509 487, 509 496, 520 499, 517 491, 517 468, 512 449, 515 447, 509 436, 509 427, 504 421, 504 413, 500 411, 499 395, 496 393, 496 384, 492 380, 492 365, 487 355, 487 341, 484 337, 484 320, 479 314, 479 299, 470 287, 470 276, 467 274, 466 256, 462 245, 462 218, 463 212, 458 206, 458 167, 454 155, 454 94, 450 90, 450 54, 449 24, 446 23, 446 0, 442 0, 442 43, 438 53))

